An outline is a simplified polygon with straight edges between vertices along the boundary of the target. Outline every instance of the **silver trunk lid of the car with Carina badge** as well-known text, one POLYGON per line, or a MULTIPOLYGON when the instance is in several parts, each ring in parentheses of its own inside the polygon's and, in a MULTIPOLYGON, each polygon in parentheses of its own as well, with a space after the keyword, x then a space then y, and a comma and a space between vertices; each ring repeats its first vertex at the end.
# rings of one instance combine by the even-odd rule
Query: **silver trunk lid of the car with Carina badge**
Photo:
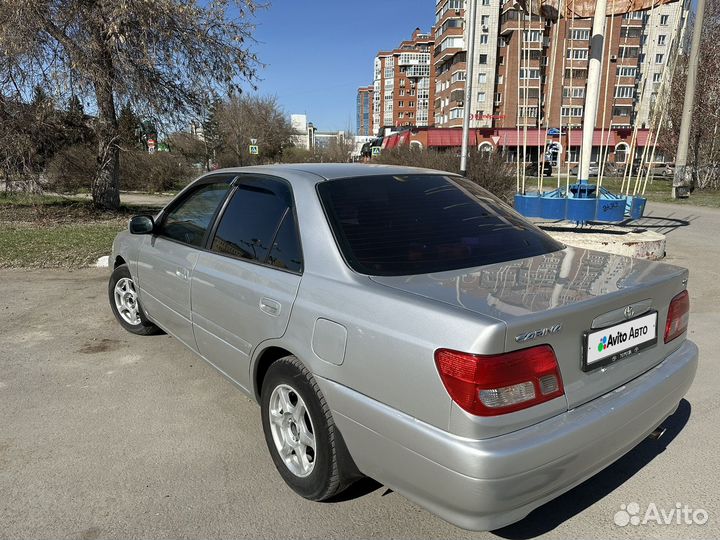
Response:
POLYGON ((570 408, 621 387, 682 342, 663 340, 668 305, 687 282, 687 270, 668 264, 568 247, 474 269, 372 279, 504 321, 505 351, 497 352, 551 345, 570 408), (628 341, 630 352, 611 340, 607 351, 590 354, 595 362, 585 367, 586 348, 627 333, 628 325, 622 325, 628 321, 649 323, 648 333, 628 341))

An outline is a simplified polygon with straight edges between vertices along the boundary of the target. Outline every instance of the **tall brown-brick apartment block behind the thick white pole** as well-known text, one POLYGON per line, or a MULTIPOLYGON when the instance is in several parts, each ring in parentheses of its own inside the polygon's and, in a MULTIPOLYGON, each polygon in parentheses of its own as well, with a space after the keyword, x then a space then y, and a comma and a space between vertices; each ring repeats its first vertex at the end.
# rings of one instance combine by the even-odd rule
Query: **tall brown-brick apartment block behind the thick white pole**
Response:
MULTIPOLYGON (((608 18, 597 127, 649 126, 663 74, 669 73, 682 11, 677 2, 652 13, 608 18)), ((591 19, 550 24, 513 9, 503 11, 493 103, 497 127, 582 124, 591 28, 591 19)))

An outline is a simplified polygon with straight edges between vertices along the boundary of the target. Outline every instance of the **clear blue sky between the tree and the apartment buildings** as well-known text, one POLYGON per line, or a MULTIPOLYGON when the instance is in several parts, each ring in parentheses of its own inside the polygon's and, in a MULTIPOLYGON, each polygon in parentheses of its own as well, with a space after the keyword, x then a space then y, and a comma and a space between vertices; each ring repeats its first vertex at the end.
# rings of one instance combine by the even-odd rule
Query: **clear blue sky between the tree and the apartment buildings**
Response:
POLYGON ((434 0, 272 0, 255 17, 258 93, 275 95, 290 114, 307 114, 321 131, 355 129, 360 86, 372 84, 373 60, 429 32, 434 0))

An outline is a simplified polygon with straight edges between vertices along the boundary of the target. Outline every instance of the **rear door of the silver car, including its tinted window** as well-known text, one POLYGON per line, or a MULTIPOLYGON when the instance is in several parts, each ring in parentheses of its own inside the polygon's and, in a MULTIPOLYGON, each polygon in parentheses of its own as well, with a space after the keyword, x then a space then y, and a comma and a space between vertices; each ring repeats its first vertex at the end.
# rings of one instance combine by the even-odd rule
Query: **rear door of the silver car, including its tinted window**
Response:
POLYGON ((290 185, 270 176, 240 176, 193 271, 200 354, 249 389, 251 352, 285 333, 301 273, 290 185))

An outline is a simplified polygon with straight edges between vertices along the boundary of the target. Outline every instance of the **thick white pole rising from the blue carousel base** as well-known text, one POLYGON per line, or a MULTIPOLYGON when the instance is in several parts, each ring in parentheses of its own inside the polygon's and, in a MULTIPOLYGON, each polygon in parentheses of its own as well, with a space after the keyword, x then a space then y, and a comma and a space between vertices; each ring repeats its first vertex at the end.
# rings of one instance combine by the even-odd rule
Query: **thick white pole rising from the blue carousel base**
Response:
MULTIPOLYGON (((592 158, 592 140, 595 133, 598 97, 600 95, 600 71, 605 47, 605 15, 607 0, 598 0, 595 4, 592 39, 590 41, 590 62, 588 64, 587 95, 583 114, 583 139, 580 152, 578 180, 587 182, 590 178, 590 160, 592 158)), ((570 60, 573 61, 572 59, 570 60)))

